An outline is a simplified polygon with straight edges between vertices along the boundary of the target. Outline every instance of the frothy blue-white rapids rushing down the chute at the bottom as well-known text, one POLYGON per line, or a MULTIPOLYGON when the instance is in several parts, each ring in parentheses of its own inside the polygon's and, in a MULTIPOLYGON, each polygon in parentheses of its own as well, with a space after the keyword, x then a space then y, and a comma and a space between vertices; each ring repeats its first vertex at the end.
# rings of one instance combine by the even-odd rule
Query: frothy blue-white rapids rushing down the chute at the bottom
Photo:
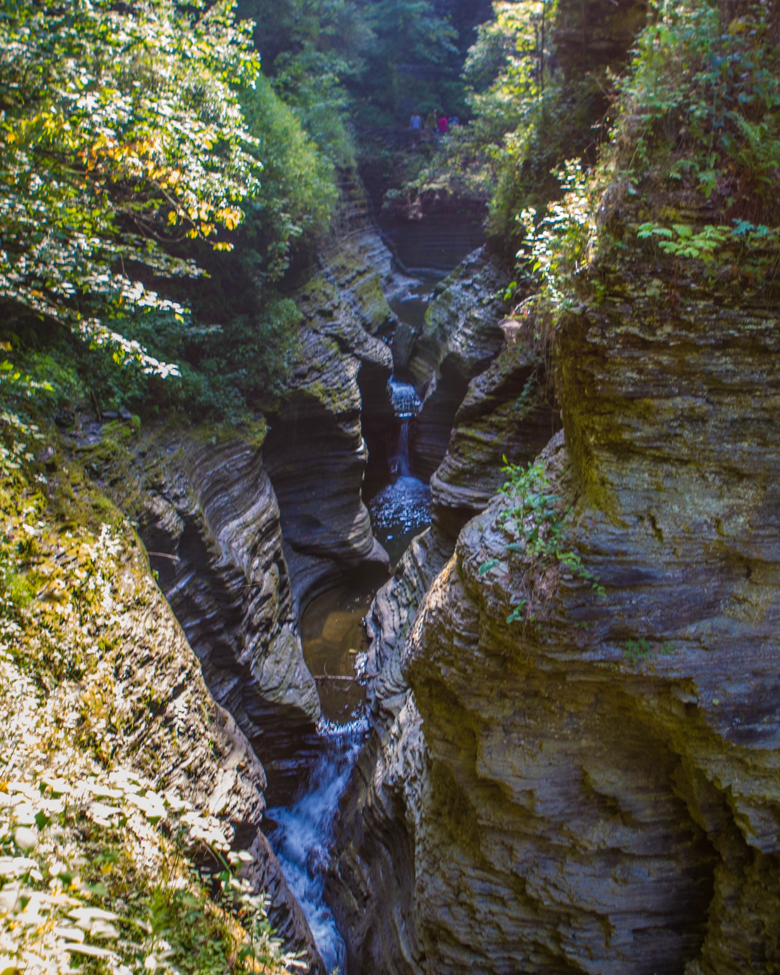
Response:
MULTIPOLYGON (((361 730, 363 729, 363 722, 361 730)), ((338 800, 360 750, 355 722, 331 737, 331 749, 311 772, 304 794, 289 808, 269 809, 277 828, 268 839, 282 872, 306 915, 326 970, 346 971, 344 942, 325 903, 325 874, 338 800)))

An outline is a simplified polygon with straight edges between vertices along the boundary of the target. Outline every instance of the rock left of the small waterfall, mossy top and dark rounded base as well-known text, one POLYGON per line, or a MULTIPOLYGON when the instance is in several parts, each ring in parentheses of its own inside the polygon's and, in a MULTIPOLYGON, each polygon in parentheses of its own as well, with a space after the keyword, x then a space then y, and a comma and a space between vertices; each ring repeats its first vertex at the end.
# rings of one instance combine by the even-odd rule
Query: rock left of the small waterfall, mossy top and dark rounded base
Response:
POLYGON ((359 565, 377 579, 387 557, 371 534, 361 497, 368 448, 392 426, 387 393, 395 316, 382 292, 390 254, 356 190, 334 230, 332 249, 296 293, 305 322, 286 402, 272 416, 265 458, 279 498, 295 604, 359 565))

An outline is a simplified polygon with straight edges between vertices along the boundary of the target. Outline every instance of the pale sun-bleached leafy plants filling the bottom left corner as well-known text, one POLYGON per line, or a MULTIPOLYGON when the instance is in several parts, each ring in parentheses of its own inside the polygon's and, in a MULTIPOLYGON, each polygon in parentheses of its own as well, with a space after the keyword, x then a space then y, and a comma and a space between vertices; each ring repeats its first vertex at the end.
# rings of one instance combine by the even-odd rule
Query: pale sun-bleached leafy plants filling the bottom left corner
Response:
POLYGON ((81 971, 118 975, 289 970, 294 957, 275 937, 267 899, 235 873, 254 857, 231 853, 228 865, 213 818, 124 770, 95 776, 76 760, 61 776, 17 777, 7 753, 0 761, 4 971, 22 970, 32 954, 52 975, 76 958, 81 971), (173 839, 146 825, 161 820, 173 839), (216 903, 192 867, 201 843, 223 864, 216 903), (144 856, 157 858, 159 879, 134 862, 144 856))

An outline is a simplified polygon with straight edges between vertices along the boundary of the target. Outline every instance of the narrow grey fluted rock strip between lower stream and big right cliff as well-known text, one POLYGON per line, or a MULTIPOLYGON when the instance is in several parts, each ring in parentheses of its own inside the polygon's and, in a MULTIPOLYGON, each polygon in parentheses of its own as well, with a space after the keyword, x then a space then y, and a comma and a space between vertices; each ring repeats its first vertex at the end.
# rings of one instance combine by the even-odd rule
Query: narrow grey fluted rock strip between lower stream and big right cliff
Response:
POLYGON ((407 789, 425 778, 419 714, 401 671, 417 610, 447 554, 432 532, 415 538, 367 617, 373 727, 353 770, 335 824, 327 883, 347 946, 348 971, 422 972, 415 939, 414 802, 407 789), (392 896, 385 896, 392 891, 392 896), (383 908, 377 911, 378 904, 383 908))

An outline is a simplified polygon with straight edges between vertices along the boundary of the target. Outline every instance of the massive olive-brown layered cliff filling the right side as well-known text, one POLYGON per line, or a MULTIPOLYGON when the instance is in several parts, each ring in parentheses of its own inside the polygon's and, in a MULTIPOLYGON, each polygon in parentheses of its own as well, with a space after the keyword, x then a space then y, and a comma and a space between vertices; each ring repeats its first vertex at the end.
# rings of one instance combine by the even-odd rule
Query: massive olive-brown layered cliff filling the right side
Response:
POLYGON ((780 963, 776 288, 616 254, 556 337, 571 556, 524 555, 499 495, 398 628, 409 692, 338 863, 368 891, 401 851, 361 903, 370 970, 780 963))

